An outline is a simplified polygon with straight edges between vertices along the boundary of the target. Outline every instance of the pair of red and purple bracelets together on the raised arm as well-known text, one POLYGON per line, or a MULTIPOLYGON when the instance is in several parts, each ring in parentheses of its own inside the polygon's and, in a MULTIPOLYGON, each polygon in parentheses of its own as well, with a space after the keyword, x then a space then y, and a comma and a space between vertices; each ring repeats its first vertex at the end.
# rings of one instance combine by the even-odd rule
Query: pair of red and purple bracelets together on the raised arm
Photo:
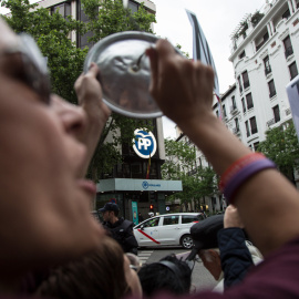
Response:
POLYGON ((231 203, 235 192, 250 176, 267 168, 276 168, 272 161, 260 153, 250 153, 233 163, 221 175, 219 189, 226 199, 231 203))

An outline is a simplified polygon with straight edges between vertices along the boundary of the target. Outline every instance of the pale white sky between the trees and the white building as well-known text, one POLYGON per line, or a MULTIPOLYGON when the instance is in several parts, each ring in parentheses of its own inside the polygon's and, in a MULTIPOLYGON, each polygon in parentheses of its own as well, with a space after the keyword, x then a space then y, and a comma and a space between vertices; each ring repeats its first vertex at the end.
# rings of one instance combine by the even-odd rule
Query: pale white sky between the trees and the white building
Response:
MULTIPOLYGON (((266 0, 152 0, 156 4, 154 32, 182 45, 193 56, 193 31, 185 9, 197 16, 216 65, 220 93, 235 83, 230 34, 247 14, 260 10, 266 0)), ((175 124, 163 116, 164 137, 175 138, 175 124)))

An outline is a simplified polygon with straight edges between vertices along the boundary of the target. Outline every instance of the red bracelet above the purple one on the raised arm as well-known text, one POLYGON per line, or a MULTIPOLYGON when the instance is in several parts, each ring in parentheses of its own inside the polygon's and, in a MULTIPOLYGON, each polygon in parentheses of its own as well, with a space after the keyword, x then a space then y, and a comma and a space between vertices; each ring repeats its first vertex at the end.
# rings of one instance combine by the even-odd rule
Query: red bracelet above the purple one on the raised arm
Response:
POLYGON ((235 161, 221 175, 220 182, 219 182, 219 189, 221 193, 224 193, 224 189, 227 185, 228 182, 230 182, 230 179, 244 167, 246 167, 247 165, 256 162, 256 161, 260 161, 260 159, 265 159, 265 155, 260 154, 260 153, 250 153, 237 161, 235 161))

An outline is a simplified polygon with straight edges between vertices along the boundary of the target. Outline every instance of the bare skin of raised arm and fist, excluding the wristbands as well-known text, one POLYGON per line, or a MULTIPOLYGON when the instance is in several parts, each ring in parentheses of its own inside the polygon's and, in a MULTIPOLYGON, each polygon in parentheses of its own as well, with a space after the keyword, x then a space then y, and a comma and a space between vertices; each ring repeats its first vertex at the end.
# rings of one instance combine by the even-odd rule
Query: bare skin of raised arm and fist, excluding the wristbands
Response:
MULTIPOLYGON (((200 62, 177 55, 164 40, 148 49, 151 92, 173 120, 205 154, 218 175, 250 153, 213 114, 214 73, 200 62)), ((257 247, 267 254, 299 235, 299 196, 275 169, 247 179, 234 195, 240 217, 257 247)))

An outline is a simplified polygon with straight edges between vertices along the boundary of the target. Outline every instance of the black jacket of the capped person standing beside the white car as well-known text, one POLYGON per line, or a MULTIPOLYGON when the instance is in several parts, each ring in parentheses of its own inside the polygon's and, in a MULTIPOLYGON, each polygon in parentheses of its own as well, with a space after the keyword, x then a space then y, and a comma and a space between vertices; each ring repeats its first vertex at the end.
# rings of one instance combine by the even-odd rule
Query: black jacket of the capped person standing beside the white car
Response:
POLYGON ((109 230, 109 235, 122 246, 124 252, 137 255, 138 244, 133 234, 134 224, 132 221, 120 218, 114 224, 103 223, 103 226, 109 230))

